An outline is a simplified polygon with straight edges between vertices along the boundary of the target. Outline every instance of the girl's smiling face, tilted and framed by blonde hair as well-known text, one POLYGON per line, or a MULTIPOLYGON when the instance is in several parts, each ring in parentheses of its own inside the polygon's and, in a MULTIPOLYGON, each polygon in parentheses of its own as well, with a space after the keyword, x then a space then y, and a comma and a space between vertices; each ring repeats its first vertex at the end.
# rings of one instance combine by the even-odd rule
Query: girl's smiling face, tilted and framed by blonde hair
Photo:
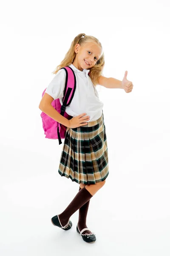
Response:
POLYGON ((86 42, 75 46, 76 58, 73 65, 79 70, 93 67, 102 55, 101 47, 94 42, 86 42))

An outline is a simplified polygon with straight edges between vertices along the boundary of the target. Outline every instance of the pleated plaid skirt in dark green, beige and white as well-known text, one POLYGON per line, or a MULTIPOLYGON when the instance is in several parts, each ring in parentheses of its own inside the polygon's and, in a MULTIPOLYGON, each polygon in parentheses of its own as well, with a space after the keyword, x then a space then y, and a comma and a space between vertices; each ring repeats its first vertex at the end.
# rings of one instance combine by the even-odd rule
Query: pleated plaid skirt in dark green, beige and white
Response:
POLYGON ((78 184, 95 184, 108 177, 108 146, 103 111, 99 119, 67 128, 59 174, 78 184))

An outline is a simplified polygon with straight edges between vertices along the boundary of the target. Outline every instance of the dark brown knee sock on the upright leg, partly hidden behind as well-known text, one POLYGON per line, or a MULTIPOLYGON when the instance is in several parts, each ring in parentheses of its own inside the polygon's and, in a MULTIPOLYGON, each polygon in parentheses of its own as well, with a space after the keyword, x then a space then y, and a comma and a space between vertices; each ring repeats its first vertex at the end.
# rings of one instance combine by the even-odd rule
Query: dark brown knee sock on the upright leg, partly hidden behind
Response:
MULTIPOLYGON (((80 187, 79 187, 79 191, 80 191, 80 187)), ((90 200, 88 202, 86 202, 82 207, 79 208, 79 221, 78 221, 78 228, 81 231, 83 228, 87 227, 86 225, 86 218, 87 218, 87 214, 88 214, 88 207, 90 204, 90 200)), ((90 234, 91 231, 89 230, 85 230, 82 234, 84 235, 85 233, 90 234)))

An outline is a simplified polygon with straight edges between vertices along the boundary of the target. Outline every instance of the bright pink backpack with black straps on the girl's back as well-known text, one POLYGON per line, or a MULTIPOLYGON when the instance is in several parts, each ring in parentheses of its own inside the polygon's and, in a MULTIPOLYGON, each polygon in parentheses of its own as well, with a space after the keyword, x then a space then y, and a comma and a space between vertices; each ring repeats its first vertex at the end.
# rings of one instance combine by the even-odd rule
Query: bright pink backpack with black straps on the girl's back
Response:
MULTIPOLYGON (((70 105, 74 92, 76 90, 76 77, 74 71, 71 67, 62 67, 66 72, 66 79, 65 79, 65 89, 64 89, 64 96, 62 98, 62 105, 59 99, 54 99, 51 102, 51 105, 65 118, 70 120, 73 116, 69 116, 65 112, 65 108, 70 105)), ((61 69, 62 69, 61 68, 61 69)), ((46 88, 45 88, 46 90, 46 88)), ((45 90, 42 93, 42 97, 45 93, 45 90)), ((66 129, 65 125, 60 124, 59 122, 52 119, 50 116, 45 114, 44 112, 40 115, 42 117, 42 127, 44 129, 45 138, 48 139, 58 139, 59 145, 62 144, 61 139, 65 138, 66 129)))

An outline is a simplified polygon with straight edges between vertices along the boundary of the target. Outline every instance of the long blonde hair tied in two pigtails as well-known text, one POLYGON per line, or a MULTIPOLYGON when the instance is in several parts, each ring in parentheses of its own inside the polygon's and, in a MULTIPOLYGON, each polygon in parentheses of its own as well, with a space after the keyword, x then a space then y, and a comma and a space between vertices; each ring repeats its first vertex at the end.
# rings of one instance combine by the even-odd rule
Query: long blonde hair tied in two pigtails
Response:
MULTIPOLYGON (((71 47, 68 50, 68 52, 66 53, 65 58, 62 60, 62 62, 56 67, 55 71, 52 73, 57 74, 57 72, 62 67, 66 67, 66 66, 72 64, 74 59, 76 58, 76 52, 75 52, 76 44, 80 44, 80 46, 83 46, 87 42, 94 42, 94 43, 98 44, 102 49, 102 44, 94 36, 85 35, 83 33, 79 34, 72 41, 71 47)), ((102 56, 99 58, 99 60, 96 61, 96 64, 93 67, 87 69, 87 70, 90 70, 89 73, 90 73, 91 81, 95 87, 98 84, 99 76, 102 75, 102 70, 103 70, 104 65, 105 65, 105 58, 104 58, 104 53, 102 53, 102 56)))

